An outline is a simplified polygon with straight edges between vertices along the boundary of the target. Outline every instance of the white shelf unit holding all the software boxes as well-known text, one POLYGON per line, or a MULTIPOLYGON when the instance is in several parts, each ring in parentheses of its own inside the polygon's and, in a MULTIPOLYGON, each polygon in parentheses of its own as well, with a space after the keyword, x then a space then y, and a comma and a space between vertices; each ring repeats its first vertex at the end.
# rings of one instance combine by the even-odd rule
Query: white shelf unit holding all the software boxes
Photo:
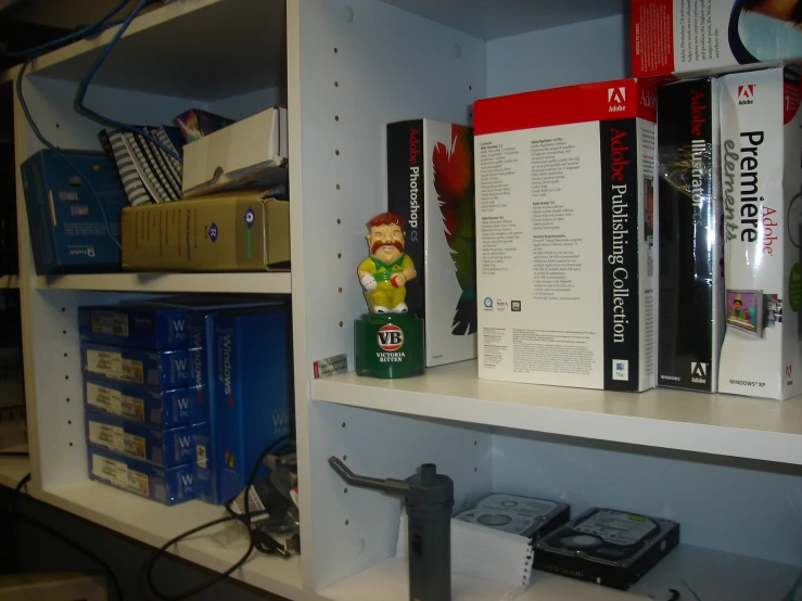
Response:
MULTIPOLYGON (((31 112, 60 146, 98 149, 99 126, 72 99, 111 35, 54 52, 26 78, 31 112)), ((89 104, 165 123, 188 106, 243 117, 287 102, 292 274, 39 278, 21 195, 33 494, 149 545, 219 515, 87 479, 76 307, 136 293, 291 293, 304 552, 258 557, 234 577, 290 599, 406 598, 393 559, 399 503, 346 491, 327 463, 335 455, 375 476, 434 462, 454 478, 458 507, 504 490, 565 500, 575 513, 599 504, 682 523, 680 549, 627 593, 537 574, 522 599, 661 599, 678 578, 703 599, 779 598, 802 565, 798 401, 484 382, 472 362, 398 382, 311 380, 315 360, 345 353, 353 366, 352 322, 364 310, 355 268, 365 222, 385 203, 385 125, 469 123, 481 98, 623 76, 626 40, 620 0, 178 0, 138 20, 89 104)), ((16 115, 24 159, 40 146, 16 115)), ((175 551, 222 570, 240 549, 205 536, 175 551)), ((458 581, 459 601, 498 588, 458 581)))

